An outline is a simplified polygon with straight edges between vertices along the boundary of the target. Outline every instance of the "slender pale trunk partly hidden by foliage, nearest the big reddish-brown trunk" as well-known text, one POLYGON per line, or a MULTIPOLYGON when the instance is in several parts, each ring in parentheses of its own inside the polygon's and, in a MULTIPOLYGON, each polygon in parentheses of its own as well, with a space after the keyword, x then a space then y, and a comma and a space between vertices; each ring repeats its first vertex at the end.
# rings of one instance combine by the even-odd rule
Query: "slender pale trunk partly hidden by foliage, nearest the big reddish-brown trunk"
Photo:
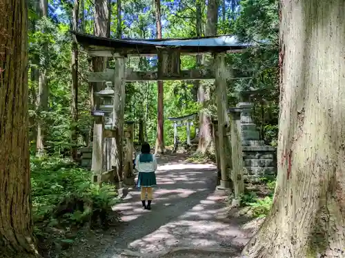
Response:
MULTIPOLYGON (((39 0, 39 9, 41 17, 48 17, 48 0, 39 0)), ((44 32, 43 32, 44 33, 44 32)), ((39 108, 39 119, 37 123, 37 154, 41 155, 45 147, 45 127, 42 118, 42 111, 46 111, 48 107, 48 80, 47 80, 47 58, 48 58, 48 43, 43 43, 43 58, 39 64, 39 93, 37 95, 37 106, 39 108)))

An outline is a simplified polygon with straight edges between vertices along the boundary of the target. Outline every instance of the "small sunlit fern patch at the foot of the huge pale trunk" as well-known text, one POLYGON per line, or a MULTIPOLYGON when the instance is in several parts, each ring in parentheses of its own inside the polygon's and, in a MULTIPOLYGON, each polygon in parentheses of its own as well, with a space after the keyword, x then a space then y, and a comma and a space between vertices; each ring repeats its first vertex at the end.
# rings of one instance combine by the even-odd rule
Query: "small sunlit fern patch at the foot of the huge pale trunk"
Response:
POLYGON ((241 204, 247 209, 248 217, 266 217, 273 204, 273 193, 275 181, 261 178, 259 184, 249 184, 244 195, 241 197, 241 204))

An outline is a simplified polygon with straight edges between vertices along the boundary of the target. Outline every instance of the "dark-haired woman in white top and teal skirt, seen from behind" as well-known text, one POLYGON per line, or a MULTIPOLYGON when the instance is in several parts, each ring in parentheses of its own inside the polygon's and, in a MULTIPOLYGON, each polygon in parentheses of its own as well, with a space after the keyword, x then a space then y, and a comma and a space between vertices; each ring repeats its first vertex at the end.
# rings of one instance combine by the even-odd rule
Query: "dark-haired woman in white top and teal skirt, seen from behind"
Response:
POLYGON ((141 189, 141 203, 146 210, 151 209, 152 187, 157 184, 155 171, 157 169, 157 160, 155 155, 150 153, 150 144, 144 142, 141 145, 141 154, 135 158, 135 167, 139 171, 138 187, 141 189), (148 204, 146 206, 146 195, 148 204))

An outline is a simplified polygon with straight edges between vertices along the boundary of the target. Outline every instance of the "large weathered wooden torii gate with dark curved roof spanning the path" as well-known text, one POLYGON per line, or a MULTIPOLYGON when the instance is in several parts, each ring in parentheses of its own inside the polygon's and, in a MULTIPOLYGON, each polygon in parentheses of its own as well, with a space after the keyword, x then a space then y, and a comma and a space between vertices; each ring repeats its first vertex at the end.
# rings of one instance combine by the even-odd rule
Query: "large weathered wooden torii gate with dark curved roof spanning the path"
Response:
MULTIPOLYGON (((114 124, 113 127, 121 127, 116 121, 124 118, 124 111, 119 111, 124 105, 124 85, 128 81, 144 80, 214 80, 217 94, 217 115, 219 134, 219 160, 221 169, 220 186, 224 189, 229 187, 229 176, 227 173, 228 157, 226 157, 226 125, 228 118, 226 114, 226 80, 236 79, 231 77, 230 70, 226 69, 225 54, 228 52, 239 52, 251 44, 239 43, 235 36, 215 36, 194 39, 108 39, 89 34, 75 34, 77 43, 81 45, 84 52, 91 56, 103 56, 116 59, 115 69, 106 69, 104 72, 93 72, 88 76, 89 82, 113 82, 115 87, 114 95, 114 124), (181 55, 197 55, 211 53, 215 60, 215 69, 210 67, 199 69, 181 70, 181 55), (158 69, 155 72, 142 72, 126 69, 126 58, 128 56, 158 56, 158 69), (121 95, 123 94, 123 95, 121 95), (225 105, 224 105, 225 103, 225 105), (221 137, 222 136, 222 137, 221 137)), ((240 77, 243 78, 243 77, 240 77)), ((121 131, 121 129, 120 129, 121 131)), ((123 134, 123 133, 122 133, 123 134)), ((120 135, 123 137, 122 135, 120 135)), ((100 139, 94 137, 94 141, 100 139)), ((93 146, 99 146, 93 143, 93 146)), ((121 151, 121 150, 119 150, 121 151)), ((94 151, 92 155, 100 155, 100 151, 94 151)), ((94 157, 92 160, 101 159, 94 157)), ((100 166, 93 166, 93 172, 101 178, 100 166), (97 168, 97 169, 96 169, 97 168)), ((94 177, 95 178, 95 177, 94 177)))

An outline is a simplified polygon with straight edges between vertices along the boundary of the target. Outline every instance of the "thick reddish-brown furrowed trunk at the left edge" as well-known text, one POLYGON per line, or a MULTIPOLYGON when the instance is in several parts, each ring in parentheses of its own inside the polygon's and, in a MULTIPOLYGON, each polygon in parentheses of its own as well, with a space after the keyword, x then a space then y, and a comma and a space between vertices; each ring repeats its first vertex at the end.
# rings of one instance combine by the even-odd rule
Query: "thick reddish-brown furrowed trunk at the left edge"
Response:
POLYGON ((0 2, 0 250, 35 257, 28 146, 28 17, 25 0, 0 2))

